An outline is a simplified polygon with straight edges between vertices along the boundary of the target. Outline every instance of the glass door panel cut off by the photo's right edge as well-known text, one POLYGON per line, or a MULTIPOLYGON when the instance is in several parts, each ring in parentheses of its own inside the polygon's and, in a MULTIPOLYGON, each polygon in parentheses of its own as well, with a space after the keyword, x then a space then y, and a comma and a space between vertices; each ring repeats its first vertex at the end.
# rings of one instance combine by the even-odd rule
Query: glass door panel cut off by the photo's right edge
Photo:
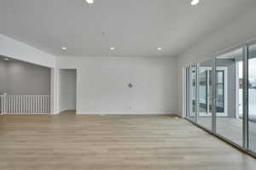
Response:
POLYGON ((256 44, 248 52, 248 145, 256 152, 256 44))

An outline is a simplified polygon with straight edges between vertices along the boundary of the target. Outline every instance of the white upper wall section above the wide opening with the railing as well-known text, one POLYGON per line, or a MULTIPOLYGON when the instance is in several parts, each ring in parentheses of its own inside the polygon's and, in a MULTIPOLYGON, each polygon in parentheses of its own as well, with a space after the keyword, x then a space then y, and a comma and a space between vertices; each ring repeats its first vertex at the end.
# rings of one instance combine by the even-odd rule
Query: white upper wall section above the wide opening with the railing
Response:
POLYGON ((0 34, 0 55, 37 65, 55 67, 55 55, 47 54, 3 34, 0 34))

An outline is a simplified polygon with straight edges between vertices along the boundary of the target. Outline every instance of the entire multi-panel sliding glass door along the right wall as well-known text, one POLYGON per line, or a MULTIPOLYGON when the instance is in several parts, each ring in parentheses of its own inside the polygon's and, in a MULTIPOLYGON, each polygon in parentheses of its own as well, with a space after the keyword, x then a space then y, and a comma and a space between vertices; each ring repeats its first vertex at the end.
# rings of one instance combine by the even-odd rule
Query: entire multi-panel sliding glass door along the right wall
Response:
POLYGON ((186 68, 186 93, 189 120, 256 156, 255 43, 186 68))

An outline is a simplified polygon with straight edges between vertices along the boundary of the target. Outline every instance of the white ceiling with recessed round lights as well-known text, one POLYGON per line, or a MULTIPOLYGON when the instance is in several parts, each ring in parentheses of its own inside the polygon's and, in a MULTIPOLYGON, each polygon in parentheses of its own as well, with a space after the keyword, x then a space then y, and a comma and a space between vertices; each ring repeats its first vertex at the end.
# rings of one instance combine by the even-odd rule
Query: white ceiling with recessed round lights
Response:
POLYGON ((193 7, 191 0, 95 2, 1 0, 0 33, 56 55, 176 56, 256 3, 201 0, 193 7))

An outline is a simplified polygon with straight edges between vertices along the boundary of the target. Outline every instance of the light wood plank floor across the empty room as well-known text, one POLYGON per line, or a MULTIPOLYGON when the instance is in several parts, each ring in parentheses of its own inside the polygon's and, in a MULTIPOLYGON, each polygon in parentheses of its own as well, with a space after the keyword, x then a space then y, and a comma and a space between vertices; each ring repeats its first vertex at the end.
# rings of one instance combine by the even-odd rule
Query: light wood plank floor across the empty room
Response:
POLYGON ((246 170, 256 160, 172 116, 0 116, 0 169, 246 170))

